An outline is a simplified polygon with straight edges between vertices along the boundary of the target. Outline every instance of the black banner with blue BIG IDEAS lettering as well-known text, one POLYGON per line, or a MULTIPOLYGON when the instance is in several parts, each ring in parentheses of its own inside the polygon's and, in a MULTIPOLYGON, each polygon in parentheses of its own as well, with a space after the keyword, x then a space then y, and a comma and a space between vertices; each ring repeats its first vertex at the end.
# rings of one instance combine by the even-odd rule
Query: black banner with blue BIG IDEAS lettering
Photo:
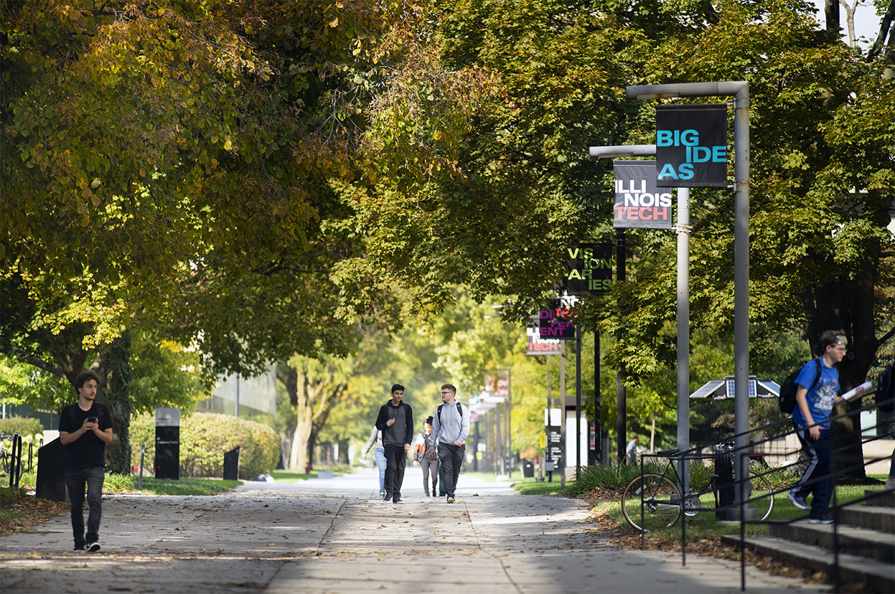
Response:
POLYGON ((656 107, 656 184, 728 186, 726 105, 656 107))

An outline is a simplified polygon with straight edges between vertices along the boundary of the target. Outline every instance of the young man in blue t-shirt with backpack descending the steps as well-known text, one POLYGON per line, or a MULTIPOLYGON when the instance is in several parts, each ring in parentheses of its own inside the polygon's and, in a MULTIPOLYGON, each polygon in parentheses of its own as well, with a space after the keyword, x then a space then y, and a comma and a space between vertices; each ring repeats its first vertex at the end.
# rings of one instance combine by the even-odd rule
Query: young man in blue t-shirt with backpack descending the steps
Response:
MULTIPOLYGON (((789 491, 789 501, 800 509, 808 509, 807 496, 813 493, 808 513, 808 522, 812 524, 832 522, 826 513, 833 484, 830 476, 830 412, 834 404, 846 402, 839 396, 839 369, 834 366, 845 358, 847 344, 842 331, 827 330, 818 341, 823 354, 818 360, 805 363, 796 378, 796 410, 792 412, 792 422, 811 462, 796 487, 789 491)), ((858 388, 856 397, 863 394, 864 389, 858 388)))

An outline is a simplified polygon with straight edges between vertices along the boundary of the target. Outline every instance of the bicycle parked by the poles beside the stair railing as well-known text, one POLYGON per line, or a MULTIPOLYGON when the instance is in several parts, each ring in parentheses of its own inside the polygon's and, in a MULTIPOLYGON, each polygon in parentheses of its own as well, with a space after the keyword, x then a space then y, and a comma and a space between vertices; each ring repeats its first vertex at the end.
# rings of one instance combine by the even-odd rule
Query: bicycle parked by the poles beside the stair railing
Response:
MULTIPOLYGON (((721 444, 718 446, 718 450, 719 456, 728 457, 728 462, 732 467, 733 446, 721 444)), ((701 510, 709 509, 706 505, 711 505, 712 500, 714 508, 720 506, 720 487, 722 485, 719 484, 717 474, 712 474, 705 488, 695 493, 685 493, 681 497, 680 489, 678 489, 681 480, 673 458, 675 454, 678 454, 678 450, 663 450, 658 454, 669 458, 665 469, 660 473, 648 472, 644 473, 643 477, 631 479, 622 492, 622 513, 635 530, 649 532, 663 527, 668 528, 678 522, 682 511, 688 516, 693 516, 701 510), (641 502, 644 506, 644 527, 640 525, 641 502)), ((771 483, 759 471, 750 468, 749 485, 752 488, 750 498, 753 501, 751 504, 758 508, 761 520, 765 520, 771 515, 774 507, 771 483)), ((724 487, 729 487, 729 485, 724 487)))

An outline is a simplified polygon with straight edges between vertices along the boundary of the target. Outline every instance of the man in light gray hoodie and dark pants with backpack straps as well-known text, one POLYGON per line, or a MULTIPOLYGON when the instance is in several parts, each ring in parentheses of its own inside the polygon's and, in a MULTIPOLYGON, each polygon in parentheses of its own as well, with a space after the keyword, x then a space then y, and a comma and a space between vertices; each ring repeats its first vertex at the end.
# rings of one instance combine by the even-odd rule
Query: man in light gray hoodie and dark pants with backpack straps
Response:
POLYGON ((435 409, 430 445, 438 448, 439 461, 444 468, 442 483, 447 491, 447 503, 454 503, 456 480, 466 455, 466 436, 469 435, 469 409, 456 402, 456 387, 441 386, 441 402, 435 409))

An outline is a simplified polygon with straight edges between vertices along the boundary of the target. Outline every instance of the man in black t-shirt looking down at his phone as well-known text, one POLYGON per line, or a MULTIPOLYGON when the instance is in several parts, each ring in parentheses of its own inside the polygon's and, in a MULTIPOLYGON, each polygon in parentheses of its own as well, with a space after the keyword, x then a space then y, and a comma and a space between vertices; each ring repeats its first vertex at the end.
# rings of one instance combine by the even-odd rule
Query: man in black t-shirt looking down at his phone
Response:
POLYGON ((112 415, 96 401, 99 377, 81 371, 74 380, 78 402, 59 414, 59 441, 65 450, 65 486, 72 502, 74 552, 99 550, 103 480, 106 479, 106 444, 112 441, 112 415), (84 485, 87 485, 87 535, 84 536, 84 485))

